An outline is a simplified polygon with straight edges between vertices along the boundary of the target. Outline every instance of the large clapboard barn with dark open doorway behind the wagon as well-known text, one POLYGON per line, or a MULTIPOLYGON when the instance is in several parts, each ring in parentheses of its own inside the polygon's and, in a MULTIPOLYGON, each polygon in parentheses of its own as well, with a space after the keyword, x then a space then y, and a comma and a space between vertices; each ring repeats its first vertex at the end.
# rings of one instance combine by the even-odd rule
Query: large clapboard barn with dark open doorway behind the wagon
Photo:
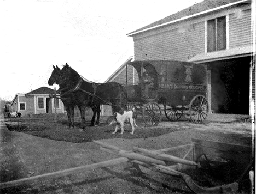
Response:
MULTIPOLYGON (((251 114, 255 104, 255 38, 251 1, 203 1, 127 34, 134 60, 178 60, 207 64, 207 99, 213 113, 251 114)), ((107 81, 128 84, 131 66, 107 81), (123 78, 121 78, 121 77, 123 78)), ((254 110, 253 110, 254 111, 254 110)))

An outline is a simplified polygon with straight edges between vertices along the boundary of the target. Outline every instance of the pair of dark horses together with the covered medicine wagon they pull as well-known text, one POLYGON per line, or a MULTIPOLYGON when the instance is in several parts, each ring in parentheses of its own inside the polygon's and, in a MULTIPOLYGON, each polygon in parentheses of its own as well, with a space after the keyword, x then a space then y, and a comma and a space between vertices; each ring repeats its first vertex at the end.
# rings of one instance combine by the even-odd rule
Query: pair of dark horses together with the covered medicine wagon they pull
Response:
POLYGON ((146 126, 158 125, 162 110, 168 120, 179 120, 184 114, 194 123, 202 123, 207 118, 206 65, 168 60, 135 61, 129 65, 137 70, 139 83, 126 84, 126 87, 117 82, 88 82, 67 64, 62 70, 54 67, 48 83, 60 85, 69 124, 74 126, 75 105, 81 111, 82 128, 85 107, 90 106, 94 111, 93 126, 96 113, 96 124, 99 122, 100 104, 111 105, 114 111, 125 105, 126 108, 134 106, 146 126))

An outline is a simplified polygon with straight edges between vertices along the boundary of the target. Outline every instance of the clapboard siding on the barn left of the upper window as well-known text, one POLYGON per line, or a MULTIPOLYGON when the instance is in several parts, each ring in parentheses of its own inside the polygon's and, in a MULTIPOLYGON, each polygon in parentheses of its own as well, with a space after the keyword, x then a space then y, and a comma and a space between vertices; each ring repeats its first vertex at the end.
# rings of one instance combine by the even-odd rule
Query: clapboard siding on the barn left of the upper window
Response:
POLYGON ((182 60, 205 52, 205 22, 194 23, 135 41, 136 60, 182 60))

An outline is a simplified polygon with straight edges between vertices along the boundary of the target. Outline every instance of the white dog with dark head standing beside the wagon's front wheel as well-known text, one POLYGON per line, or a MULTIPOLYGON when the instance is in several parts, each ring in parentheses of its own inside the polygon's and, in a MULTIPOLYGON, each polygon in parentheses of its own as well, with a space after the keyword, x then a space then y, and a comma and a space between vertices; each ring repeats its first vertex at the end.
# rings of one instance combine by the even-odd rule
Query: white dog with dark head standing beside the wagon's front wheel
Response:
POLYGON ((112 132, 112 134, 115 134, 119 128, 119 125, 121 125, 121 132, 120 134, 123 134, 124 132, 124 123, 126 121, 129 120, 131 128, 132 128, 132 132, 131 134, 134 134, 134 126, 136 125, 136 119, 135 119, 135 114, 133 113, 133 111, 122 111, 121 113, 116 112, 114 113, 114 117, 115 119, 112 120, 112 122, 109 123, 108 126, 113 125, 114 123, 115 125, 115 131, 112 132))

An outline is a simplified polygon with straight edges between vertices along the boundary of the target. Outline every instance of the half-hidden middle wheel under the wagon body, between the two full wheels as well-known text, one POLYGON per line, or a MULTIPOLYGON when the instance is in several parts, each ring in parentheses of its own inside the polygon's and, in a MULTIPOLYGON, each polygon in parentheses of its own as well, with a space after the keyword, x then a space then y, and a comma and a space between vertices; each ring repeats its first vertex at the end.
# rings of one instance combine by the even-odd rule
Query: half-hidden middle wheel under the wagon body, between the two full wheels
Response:
POLYGON ((183 110, 183 106, 164 106, 165 117, 171 121, 179 120, 183 114, 183 110))

